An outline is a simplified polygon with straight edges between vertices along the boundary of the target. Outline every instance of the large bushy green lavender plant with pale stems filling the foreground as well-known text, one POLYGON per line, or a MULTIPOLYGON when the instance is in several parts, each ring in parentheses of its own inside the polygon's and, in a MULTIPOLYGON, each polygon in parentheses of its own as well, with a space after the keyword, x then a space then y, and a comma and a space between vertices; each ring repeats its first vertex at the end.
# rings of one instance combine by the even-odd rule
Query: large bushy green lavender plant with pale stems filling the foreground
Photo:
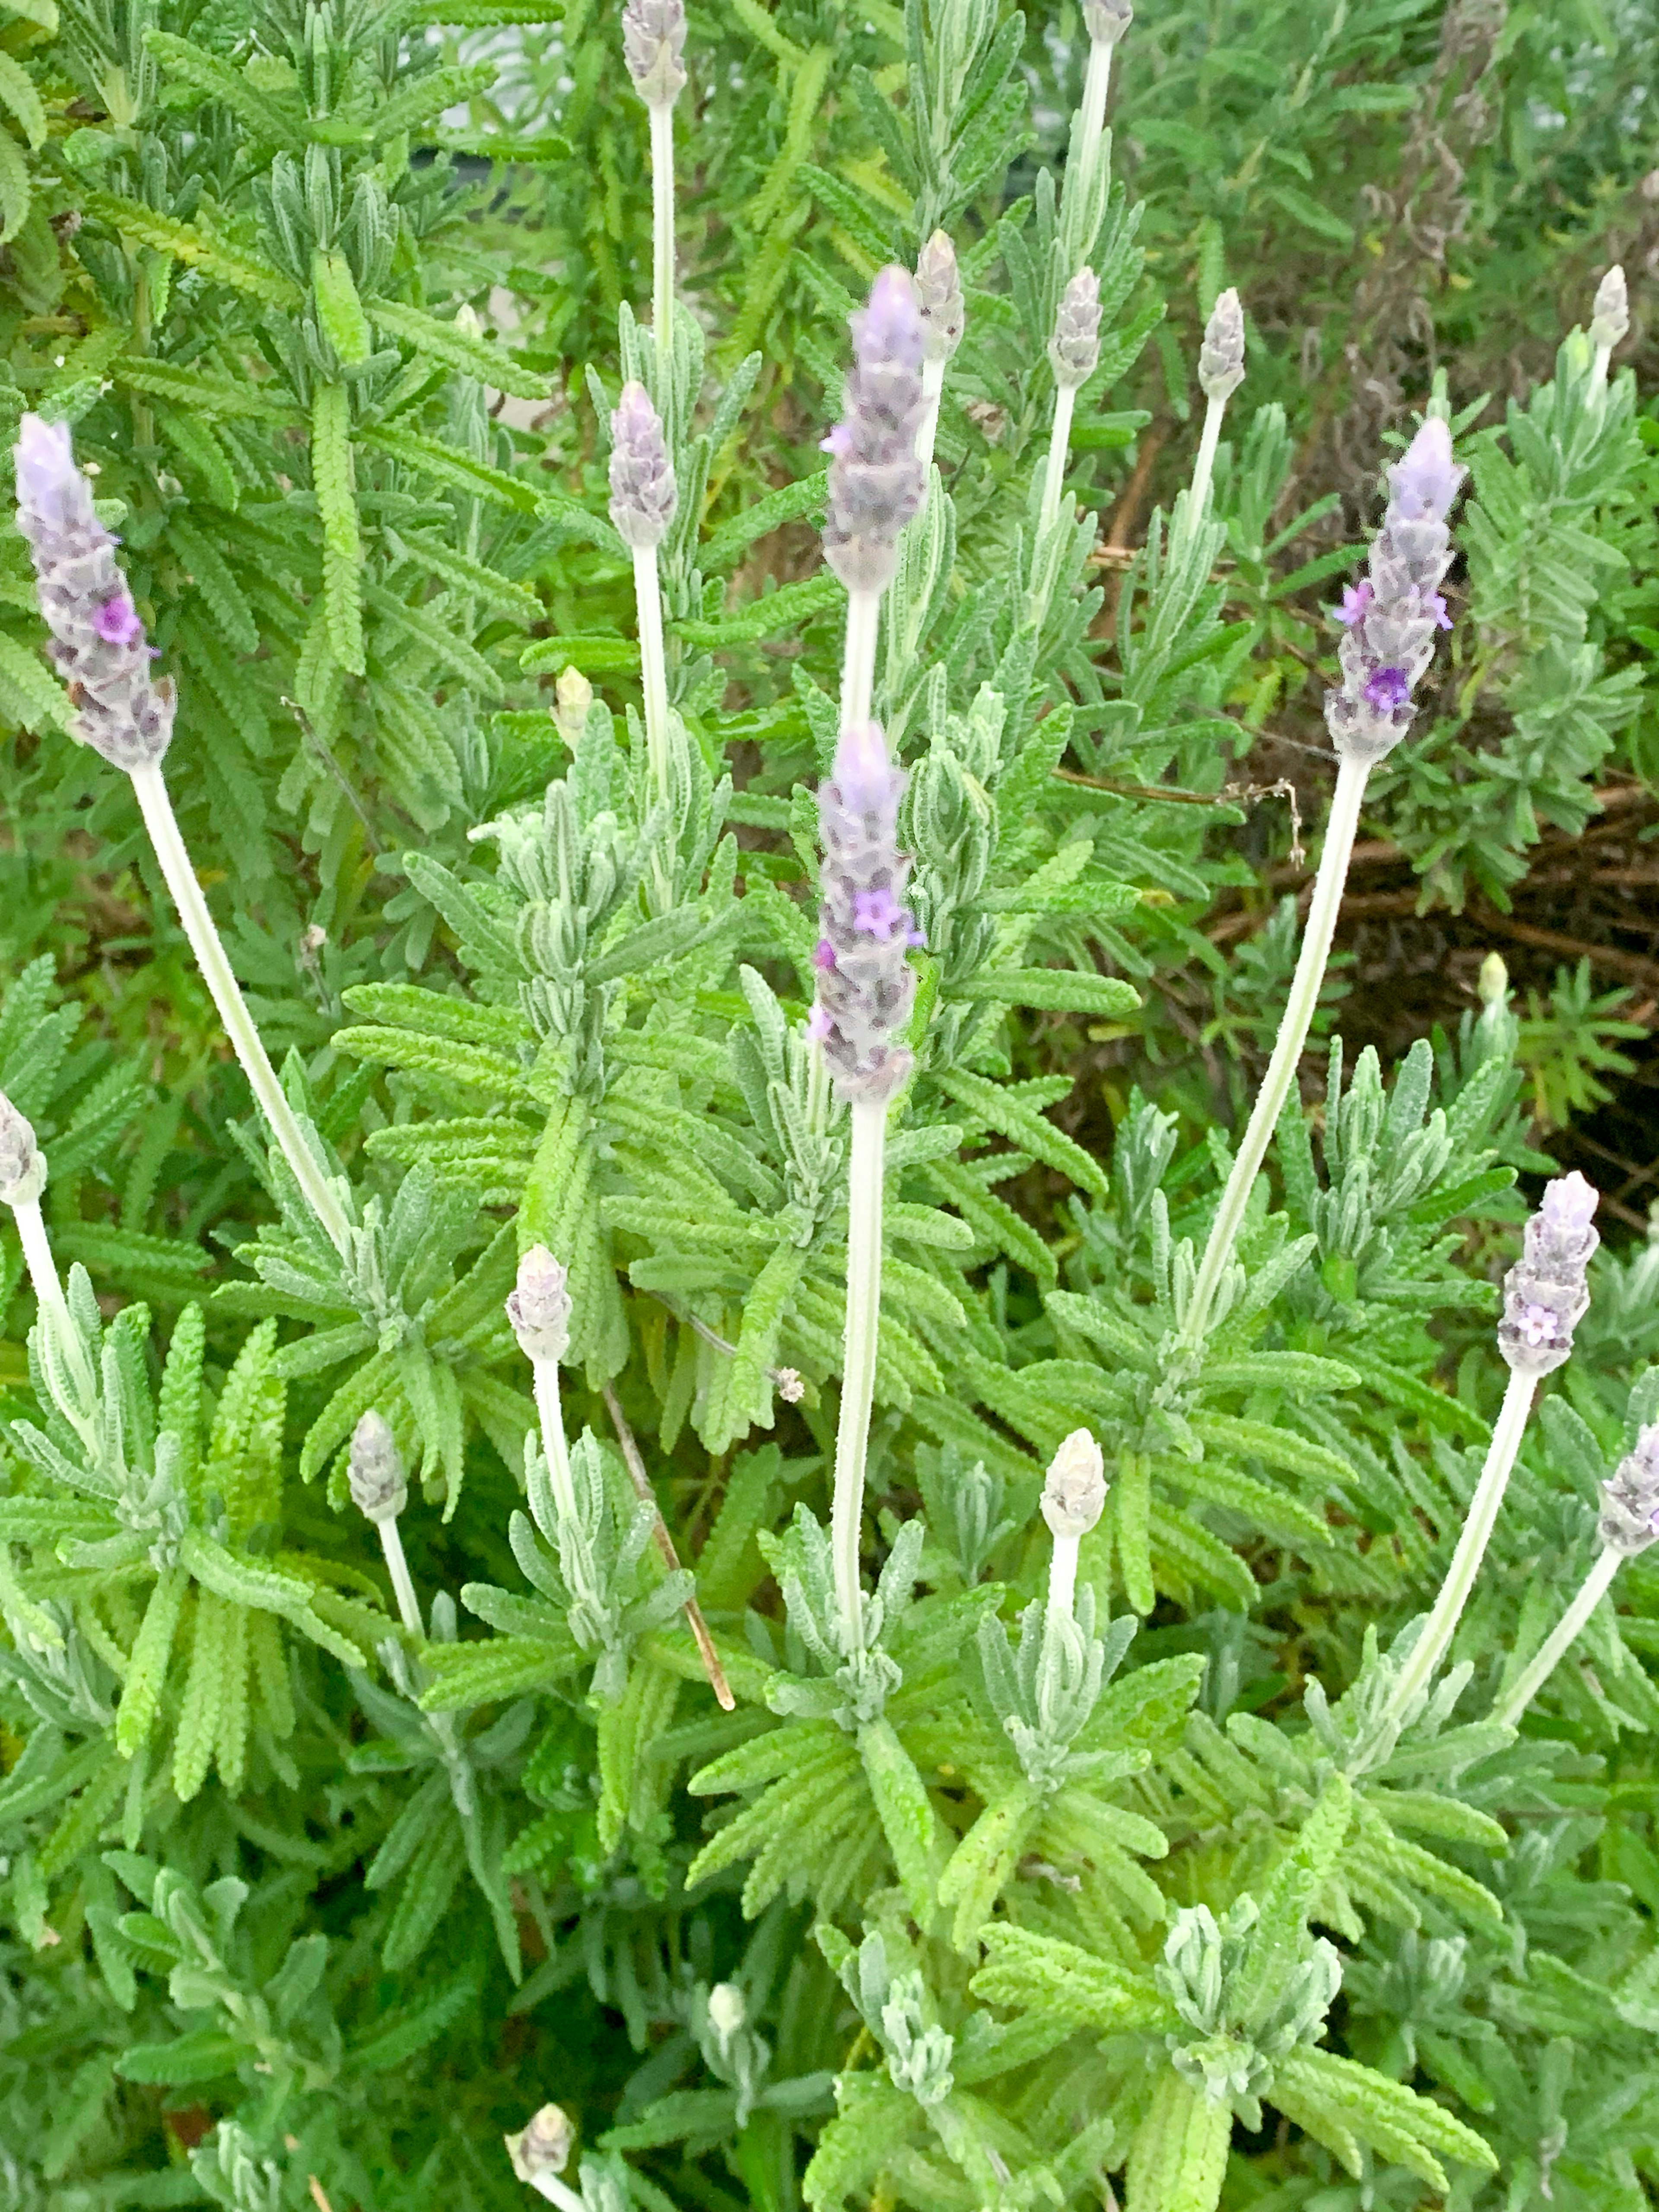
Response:
MULTIPOLYGON (((1652 1254, 1601 1248, 1582 1175, 1511 1254, 1553 1164, 1502 962, 1391 1075, 1303 1068, 1371 774, 1438 743, 1458 546, 1475 633, 1571 617, 1555 551, 1429 394, 1329 624, 1265 1075, 1237 1148, 1183 1119, 1141 1002, 1241 872, 1279 602, 1349 555, 1292 584, 1285 405, 1203 243, 1192 471, 1097 553, 1099 471, 1152 482, 1106 403, 1164 307, 1106 102, 1166 29, 1088 0, 1064 175, 1009 199, 1018 15, 734 18, 741 69, 659 0, 560 29, 571 139, 595 100, 648 137, 648 341, 619 215, 526 226, 538 148, 489 102, 531 35, 0 33, 42 192, 4 137, 9 281, 73 250, 88 310, 31 294, 13 334, 7 639, 49 659, 0 679, 24 752, 126 772, 71 783, 77 836, 166 929, 155 856, 201 1044, 173 1095, 177 1046, 113 1066, 44 967, 0 1004, 0 2181, 1626 2212, 1659 2188, 1652 1254), (699 208, 774 100, 783 248, 721 327, 699 208), (456 221, 451 157, 507 137, 456 221), (549 422, 566 283, 588 372, 549 422), (263 876, 197 872, 201 761, 285 810, 263 876), (288 878, 283 971, 248 885, 292 922, 288 878), (1126 1040, 1106 1146, 1091 1051, 1126 1040)), ((1396 35, 1358 18, 1298 111, 1396 35)), ((1557 491, 1544 418, 1579 458, 1628 434, 1626 314, 1604 283, 1509 425, 1557 491)), ((164 964, 82 971, 100 1031, 164 964)))

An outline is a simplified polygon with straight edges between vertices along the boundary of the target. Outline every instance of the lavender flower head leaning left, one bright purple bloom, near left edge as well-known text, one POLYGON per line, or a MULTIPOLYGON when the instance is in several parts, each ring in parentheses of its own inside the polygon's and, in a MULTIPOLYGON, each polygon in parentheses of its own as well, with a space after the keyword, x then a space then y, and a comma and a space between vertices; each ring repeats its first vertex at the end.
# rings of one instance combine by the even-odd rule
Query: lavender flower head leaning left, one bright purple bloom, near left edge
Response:
POLYGON ((173 737, 173 684, 150 684, 150 646, 115 538, 93 513, 66 422, 18 427, 18 529, 40 580, 51 657, 77 710, 75 737, 111 768, 150 768, 173 737))

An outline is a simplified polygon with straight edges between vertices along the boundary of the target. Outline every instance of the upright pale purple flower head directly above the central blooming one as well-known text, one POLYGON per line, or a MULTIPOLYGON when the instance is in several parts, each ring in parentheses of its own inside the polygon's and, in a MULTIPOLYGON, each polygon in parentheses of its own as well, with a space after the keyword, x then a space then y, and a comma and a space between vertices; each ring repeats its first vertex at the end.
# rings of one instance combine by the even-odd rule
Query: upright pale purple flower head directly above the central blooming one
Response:
POLYGON ((887 586, 898 533, 922 504, 916 431, 925 411, 925 347, 909 270, 883 270, 869 305, 852 316, 845 416, 823 440, 832 456, 823 557, 847 591, 887 586))

